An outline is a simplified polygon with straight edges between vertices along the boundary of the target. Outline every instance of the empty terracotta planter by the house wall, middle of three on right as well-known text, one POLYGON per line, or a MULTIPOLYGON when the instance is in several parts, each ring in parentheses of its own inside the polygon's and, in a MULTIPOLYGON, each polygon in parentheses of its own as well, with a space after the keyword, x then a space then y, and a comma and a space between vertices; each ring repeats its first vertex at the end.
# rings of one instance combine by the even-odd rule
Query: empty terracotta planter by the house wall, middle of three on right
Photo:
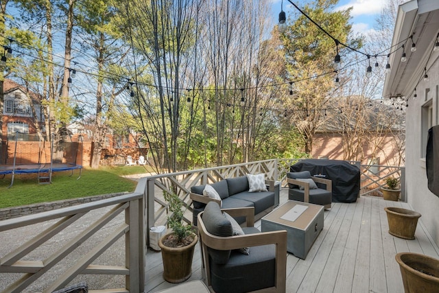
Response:
POLYGON ((420 213, 399 207, 385 207, 389 233, 403 239, 414 239, 420 213))

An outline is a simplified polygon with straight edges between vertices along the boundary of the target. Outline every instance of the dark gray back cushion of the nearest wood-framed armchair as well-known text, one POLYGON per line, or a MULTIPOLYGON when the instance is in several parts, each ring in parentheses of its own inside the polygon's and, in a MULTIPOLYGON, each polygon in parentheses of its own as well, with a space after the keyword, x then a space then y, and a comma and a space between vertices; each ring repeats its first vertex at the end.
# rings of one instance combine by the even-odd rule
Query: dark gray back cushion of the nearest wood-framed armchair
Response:
MULTIPOLYGON (((233 236, 232 224, 224 217, 216 202, 209 202, 206 204, 202 219, 206 231, 212 235, 220 237, 233 236)), ((227 263, 228 258, 230 257, 230 250, 216 250, 210 247, 208 250, 209 257, 211 257, 213 263, 227 263)))

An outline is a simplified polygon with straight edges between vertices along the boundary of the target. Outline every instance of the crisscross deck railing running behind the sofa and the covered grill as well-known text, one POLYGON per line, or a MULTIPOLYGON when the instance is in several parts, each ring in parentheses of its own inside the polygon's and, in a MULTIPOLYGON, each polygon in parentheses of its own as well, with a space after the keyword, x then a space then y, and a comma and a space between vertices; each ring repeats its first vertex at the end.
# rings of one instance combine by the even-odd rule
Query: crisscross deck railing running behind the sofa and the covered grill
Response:
MULTIPOLYGON (((185 221, 189 224, 191 222, 192 215, 191 199, 189 198, 191 187, 195 185, 215 183, 224 178, 242 176, 248 173, 265 173, 267 179, 281 181, 282 185, 286 186, 286 178, 287 172, 289 172, 289 167, 298 161, 300 161, 300 159, 271 159, 148 176, 145 178, 147 186, 145 192, 145 202, 147 207, 147 229, 149 230, 149 228, 153 226, 165 225, 167 222, 167 202, 165 202, 163 198, 164 192, 178 194, 187 208, 187 212, 185 213, 185 221)), ((401 180, 401 200, 405 200, 404 167, 361 165, 359 161, 348 161, 348 163, 356 165, 360 169, 360 196, 382 196, 380 189, 385 184, 384 179, 388 176, 395 176, 401 180)))

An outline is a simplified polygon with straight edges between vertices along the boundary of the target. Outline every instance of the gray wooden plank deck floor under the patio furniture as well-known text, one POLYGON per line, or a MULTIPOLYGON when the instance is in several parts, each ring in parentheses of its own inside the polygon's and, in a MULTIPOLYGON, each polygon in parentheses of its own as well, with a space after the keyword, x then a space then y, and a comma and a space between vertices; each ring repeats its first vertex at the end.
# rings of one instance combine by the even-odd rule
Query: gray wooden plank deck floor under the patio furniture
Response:
MULTIPOLYGON (((283 189, 281 203, 286 200, 287 190, 283 189)), ((306 259, 288 254, 287 292, 403 292, 396 253, 421 253, 439 259, 439 249, 423 226, 422 217, 416 239, 390 235, 384 207, 412 209, 404 202, 368 196, 351 204, 333 203, 332 209, 324 211, 324 228, 306 259)), ((199 245, 192 270, 189 280, 202 279, 199 245)), ((176 285, 163 280, 161 253, 147 251, 145 271, 145 292, 176 285)))

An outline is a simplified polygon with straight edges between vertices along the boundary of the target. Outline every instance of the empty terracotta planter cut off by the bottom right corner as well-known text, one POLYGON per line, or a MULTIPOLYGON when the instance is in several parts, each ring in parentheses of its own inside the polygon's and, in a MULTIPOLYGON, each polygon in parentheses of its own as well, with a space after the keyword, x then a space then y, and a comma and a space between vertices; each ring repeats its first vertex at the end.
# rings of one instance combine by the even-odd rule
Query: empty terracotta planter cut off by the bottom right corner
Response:
POLYGON ((439 259, 417 253, 398 253, 395 259, 401 269, 405 293, 438 292, 439 259))

